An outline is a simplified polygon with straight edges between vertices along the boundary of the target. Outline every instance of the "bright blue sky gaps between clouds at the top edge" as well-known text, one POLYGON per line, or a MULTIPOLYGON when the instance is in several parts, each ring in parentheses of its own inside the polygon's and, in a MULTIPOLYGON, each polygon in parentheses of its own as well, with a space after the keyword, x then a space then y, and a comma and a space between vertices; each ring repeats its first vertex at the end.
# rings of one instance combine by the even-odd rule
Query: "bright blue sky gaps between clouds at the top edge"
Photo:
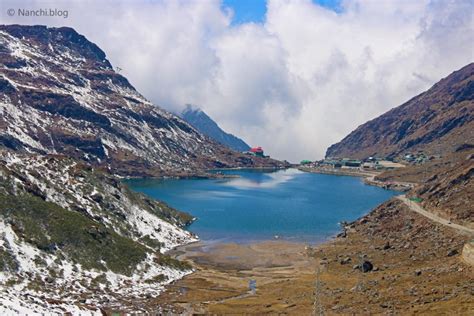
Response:
MULTIPOLYGON (((340 11, 341 0, 313 0, 314 3, 340 11)), ((267 0, 223 0, 223 6, 234 11, 233 24, 261 23, 265 20, 267 0)))

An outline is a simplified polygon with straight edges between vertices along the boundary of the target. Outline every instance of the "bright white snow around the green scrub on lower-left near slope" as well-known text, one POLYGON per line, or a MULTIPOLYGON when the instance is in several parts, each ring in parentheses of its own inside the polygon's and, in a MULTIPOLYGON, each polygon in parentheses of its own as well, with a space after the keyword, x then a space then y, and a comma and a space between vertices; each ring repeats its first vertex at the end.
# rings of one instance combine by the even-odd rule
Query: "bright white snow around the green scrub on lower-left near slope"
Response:
MULTIPOLYGON (((60 204, 64 208, 80 203, 87 208, 91 216, 101 216, 106 210, 99 211, 100 205, 90 197, 104 192, 104 188, 90 186, 85 178, 74 177, 73 172, 78 167, 70 159, 53 159, 46 156, 19 155, 11 152, 0 152, 0 167, 3 163, 6 172, 12 171, 10 176, 17 175, 14 183, 21 187, 25 181, 36 185, 51 202, 60 204), (14 171, 14 172, 13 172, 14 171), (20 176, 18 176, 20 175, 20 176), (25 180, 26 179, 26 180, 25 180), (45 180, 47 179, 47 181, 45 180), (87 192, 87 193, 86 193, 87 192), (69 194, 73 198, 65 198, 69 194)), ((0 168, 1 170, 1 168, 0 168)), ((2 176, 5 176, 2 171, 2 176)), ((105 185, 105 184, 104 184, 105 185)), ((157 240, 163 244, 161 252, 178 245, 197 240, 189 232, 173 225, 149 211, 135 205, 117 188, 107 187, 114 194, 121 194, 117 208, 123 212, 124 225, 129 232, 134 233, 135 240, 144 236, 157 240)), ((110 192, 109 192, 110 193, 110 192)), ((105 221, 104 224, 112 223, 105 221)), ((119 234, 121 229, 110 225, 119 234)), ((155 297, 164 288, 164 285, 182 278, 191 273, 190 270, 179 270, 168 266, 161 266, 155 262, 156 255, 150 252, 134 270, 131 276, 106 273, 96 270, 85 270, 79 264, 73 264, 62 256, 45 253, 31 244, 22 241, 14 232, 11 225, 0 217, 0 250, 12 254, 18 263, 15 272, 0 272, 0 314, 99 314, 94 306, 120 306, 122 298, 155 297), (41 258, 46 265, 38 265, 37 258, 41 258), (49 269, 62 271, 62 275, 53 281, 46 280, 49 269), (104 276, 107 280, 100 285, 100 289, 88 287, 91 280, 104 276), (46 288, 41 290, 31 288, 32 280, 40 278, 46 288), (150 282, 150 280, 153 280, 150 282), (8 285, 14 281, 14 285, 8 285), (61 291, 59 291, 61 289, 61 291), (78 303, 78 297, 85 295, 86 301, 78 303), (47 298, 47 299, 46 299, 47 298), (90 310, 89 308, 92 308, 90 310)))

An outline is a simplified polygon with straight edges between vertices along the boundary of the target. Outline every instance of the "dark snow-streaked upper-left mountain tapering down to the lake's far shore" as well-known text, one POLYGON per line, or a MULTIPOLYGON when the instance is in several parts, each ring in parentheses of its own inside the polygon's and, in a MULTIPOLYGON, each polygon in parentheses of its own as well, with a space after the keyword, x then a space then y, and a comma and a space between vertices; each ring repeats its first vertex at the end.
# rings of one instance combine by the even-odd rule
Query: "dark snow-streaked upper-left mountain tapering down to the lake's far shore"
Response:
POLYGON ((0 144, 64 154, 122 176, 282 166, 201 135, 140 95, 71 28, 0 26, 0 144))

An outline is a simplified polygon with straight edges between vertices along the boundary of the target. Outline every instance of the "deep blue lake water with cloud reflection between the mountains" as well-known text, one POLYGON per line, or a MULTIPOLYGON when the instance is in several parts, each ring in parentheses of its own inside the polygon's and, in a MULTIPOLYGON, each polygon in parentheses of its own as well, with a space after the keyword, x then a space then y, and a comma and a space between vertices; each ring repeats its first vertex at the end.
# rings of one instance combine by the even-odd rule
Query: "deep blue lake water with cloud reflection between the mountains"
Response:
POLYGON ((305 173, 224 171, 232 179, 132 179, 135 191, 165 201, 197 218, 189 226, 210 242, 281 239, 316 243, 397 194, 362 179, 305 173))

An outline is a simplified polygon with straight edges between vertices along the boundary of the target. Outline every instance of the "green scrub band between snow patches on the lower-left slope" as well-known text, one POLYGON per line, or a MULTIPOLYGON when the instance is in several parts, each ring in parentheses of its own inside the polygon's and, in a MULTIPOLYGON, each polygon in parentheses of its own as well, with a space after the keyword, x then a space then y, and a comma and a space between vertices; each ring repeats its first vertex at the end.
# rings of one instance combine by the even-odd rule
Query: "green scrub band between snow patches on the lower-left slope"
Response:
POLYGON ((18 236, 49 253, 61 249, 86 269, 130 275, 146 257, 145 246, 38 197, 0 195, 0 205, 1 215, 10 219, 18 236))

